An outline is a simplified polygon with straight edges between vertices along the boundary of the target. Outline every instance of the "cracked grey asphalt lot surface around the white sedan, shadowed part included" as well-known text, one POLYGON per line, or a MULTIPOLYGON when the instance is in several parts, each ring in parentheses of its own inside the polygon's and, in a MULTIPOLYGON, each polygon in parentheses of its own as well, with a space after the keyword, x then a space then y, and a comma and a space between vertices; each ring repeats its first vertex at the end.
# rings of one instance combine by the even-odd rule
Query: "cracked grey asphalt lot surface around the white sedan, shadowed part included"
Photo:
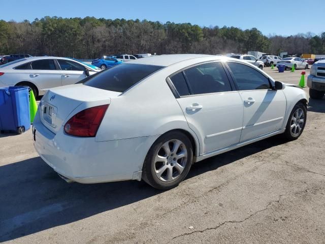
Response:
POLYGON ((204 160, 166 192, 138 181, 67 184, 38 157, 31 131, 0 134, 0 242, 325 243, 325 99, 308 110, 298 140, 275 136, 204 160))

